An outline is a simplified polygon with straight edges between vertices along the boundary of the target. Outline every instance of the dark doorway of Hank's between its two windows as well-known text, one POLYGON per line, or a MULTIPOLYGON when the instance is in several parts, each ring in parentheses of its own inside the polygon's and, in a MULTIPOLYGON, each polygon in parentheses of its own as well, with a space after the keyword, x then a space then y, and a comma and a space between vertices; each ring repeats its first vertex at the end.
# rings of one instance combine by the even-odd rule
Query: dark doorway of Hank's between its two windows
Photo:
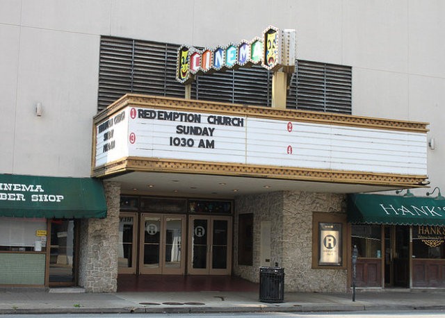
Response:
POLYGON ((410 227, 385 226, 385 287, 410 286, 410 227))

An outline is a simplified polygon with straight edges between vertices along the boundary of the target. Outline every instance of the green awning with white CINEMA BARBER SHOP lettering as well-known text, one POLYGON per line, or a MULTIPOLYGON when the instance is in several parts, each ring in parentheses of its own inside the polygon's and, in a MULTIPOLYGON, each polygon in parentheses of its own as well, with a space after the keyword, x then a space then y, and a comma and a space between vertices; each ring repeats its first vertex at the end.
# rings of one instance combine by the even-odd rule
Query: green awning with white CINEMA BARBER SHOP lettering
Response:
POLYGON ((0 216, 104 218, 104 187, 92 178, 0 174, 0 216))

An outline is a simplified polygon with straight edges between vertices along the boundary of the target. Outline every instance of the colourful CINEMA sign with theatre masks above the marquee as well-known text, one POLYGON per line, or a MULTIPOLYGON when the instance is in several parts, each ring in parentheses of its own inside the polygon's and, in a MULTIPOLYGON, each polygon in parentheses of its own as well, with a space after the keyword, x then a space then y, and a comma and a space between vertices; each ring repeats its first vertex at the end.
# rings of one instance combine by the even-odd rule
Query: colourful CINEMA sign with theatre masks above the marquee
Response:
POLYGON ((195 49, 182 45, 177 56, 177 81, 187 84, 195 75, 211 74, 262 65, 266 69, 275 70, 282 66, 295 65, 295 30, 283 30, 269 26, 263 37, 254 37, 251 41, 241 40, 238 44, 213 49, 195 49))

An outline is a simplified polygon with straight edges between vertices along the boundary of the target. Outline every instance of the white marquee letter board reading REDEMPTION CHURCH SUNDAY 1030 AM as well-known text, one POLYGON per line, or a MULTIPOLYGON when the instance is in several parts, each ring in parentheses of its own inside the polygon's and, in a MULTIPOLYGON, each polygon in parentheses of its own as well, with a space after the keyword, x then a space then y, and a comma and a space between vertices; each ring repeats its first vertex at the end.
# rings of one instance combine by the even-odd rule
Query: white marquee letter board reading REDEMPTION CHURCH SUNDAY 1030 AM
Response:
POLYGON ((426 174, 423 133, 153 106, 127 106, 95 130, 95 167, 138 157, 426 174))

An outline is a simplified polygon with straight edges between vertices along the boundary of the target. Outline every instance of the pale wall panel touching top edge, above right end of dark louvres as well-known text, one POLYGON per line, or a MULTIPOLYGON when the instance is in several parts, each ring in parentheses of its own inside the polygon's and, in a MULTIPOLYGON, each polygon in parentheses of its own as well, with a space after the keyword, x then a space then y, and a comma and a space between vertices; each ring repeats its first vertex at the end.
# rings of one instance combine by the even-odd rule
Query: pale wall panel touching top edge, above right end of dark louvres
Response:
POLYGON ((343 63, 407 72, 407 1, 347 1, 343 6, 343 63))

